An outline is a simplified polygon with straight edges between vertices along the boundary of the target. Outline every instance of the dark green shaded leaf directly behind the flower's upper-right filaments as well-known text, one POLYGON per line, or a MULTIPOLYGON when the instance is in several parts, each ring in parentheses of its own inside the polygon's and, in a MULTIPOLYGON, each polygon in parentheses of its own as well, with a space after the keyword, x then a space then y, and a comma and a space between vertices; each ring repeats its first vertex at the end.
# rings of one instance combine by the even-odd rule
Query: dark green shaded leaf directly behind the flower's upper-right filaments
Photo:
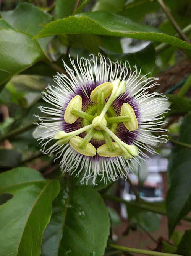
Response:
POLYGON ((154 69, 156 54, 154 46, 152 44, 147 45, 144 49, 135 53, 117 54, 111 53, 103 48, 101 49, 113 61, 116 61, 116 59, 118 59, 118 61, 121 61, 122 63, 128 61, 131 67, 136 65, 138 69, 141 68, 142 74, 144 75, 152 72, 154 69))

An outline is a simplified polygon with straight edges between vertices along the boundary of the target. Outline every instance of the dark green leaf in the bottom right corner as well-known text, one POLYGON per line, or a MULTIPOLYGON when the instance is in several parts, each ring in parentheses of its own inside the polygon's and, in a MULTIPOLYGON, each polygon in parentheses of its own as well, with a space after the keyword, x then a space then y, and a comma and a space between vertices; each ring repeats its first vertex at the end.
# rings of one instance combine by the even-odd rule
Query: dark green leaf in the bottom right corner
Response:
POLYGON ((185 231, 176 253, 191 256, 191 230, 185 231))

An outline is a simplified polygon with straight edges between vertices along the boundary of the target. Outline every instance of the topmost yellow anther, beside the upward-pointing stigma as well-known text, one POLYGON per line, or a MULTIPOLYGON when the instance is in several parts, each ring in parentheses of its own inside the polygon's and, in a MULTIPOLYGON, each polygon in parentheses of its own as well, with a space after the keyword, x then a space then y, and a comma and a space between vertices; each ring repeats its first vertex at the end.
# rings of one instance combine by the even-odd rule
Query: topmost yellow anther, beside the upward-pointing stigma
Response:
POLYGON ((97 102, 97 96, 100 91, 104 93, 104 99, 107 98, 113 90, 113 85, 110 82, 105 82, 103 84, 98 85, 94 90, 92 90, 90 94, 90 99, 93 102, 97 102))

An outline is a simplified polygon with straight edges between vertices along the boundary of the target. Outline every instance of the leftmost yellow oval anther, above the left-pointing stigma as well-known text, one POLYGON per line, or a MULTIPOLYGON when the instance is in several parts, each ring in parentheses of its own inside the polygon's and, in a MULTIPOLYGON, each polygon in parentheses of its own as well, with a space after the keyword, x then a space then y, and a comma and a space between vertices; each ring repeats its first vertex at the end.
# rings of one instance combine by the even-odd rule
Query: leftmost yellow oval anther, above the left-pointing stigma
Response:
POLYGON ((68 103, 68 106, 66 107, 64 114, 64 121, 66 123, 74 123, 79 117, 78 115, 74 115, 73 113, 71 113, 72 108, 77 108, 78 110, 81 110, 82 98, 79 95, 73 97, 68 103))

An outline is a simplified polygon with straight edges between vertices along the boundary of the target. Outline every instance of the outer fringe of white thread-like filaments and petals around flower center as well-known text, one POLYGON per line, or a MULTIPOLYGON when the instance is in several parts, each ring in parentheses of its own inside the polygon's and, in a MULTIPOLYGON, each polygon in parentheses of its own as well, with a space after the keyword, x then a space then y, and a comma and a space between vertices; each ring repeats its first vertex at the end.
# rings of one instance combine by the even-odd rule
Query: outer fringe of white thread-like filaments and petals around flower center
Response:
MULTIPOLYGON (((125 178, 132 166, 139 162, 139 159, 147 158, 147 152, 154 154, 154 147, 157 143, 165 143, 167 138, 162 133, 166 130, 159 128, 165 124, 162 120, 163 113, 168 111, 169 102, 167 97, 157 92, 150 93, 149 88, 157 86, 157 78, 147 78, 142 76, 134 66, 134 71, 126 61, 125 64, 120 62, 112 62, 99 54, 99 57, 90 56, 89 59, 77 59, 76 62, 71 60, 72 68, 68 67, 64 62, 64 68, 68 75, 59 74, 54 77, 57 85, 49 85, 43 92, 43 99, 50 103, 50 107, 40 106, 40 110, 46 113, 48 117, 39 117, 38 127, 34 131, 34 137, 38 138, 42 146, 42 152, 45 154, 55 153, 55 159, 61 159, 60 166, 63 172, 79 176, 83 172, 81 182, 93 180, 95 184, 96 177, 100 180, 115 181, 119 177, 125 178), (139 155, 129 160, 125 160, 122 156, 105 158, 102 156, 89 157, 79 154, 71 148, 70 144, 58 145, 54 139, 58 131, 63 130, 65 106, 70 102, 71 95, 73 97, 80 88, 84 97, 89 98, 90 85, 94 87, 104 83, 112 82, 116 79, 126 81, 126 91, 128 97, 131 97, 135 104, 135 109, 139 112, 138 129, 133 131, 133 141, 138 150, 139 155), (154 133, 161 133, 156 136, 154 133)), ((123 97, 121 94, 117 100, 123 97)), ((120 113, 116 113, 120 115, 120 113)), ((72 131, 67 126, 65 132, 72 131)), ((118 134, 123 129, 118 124, 118 134), (120 130, 121 127, 121 130, 120 130)), ((124 138, 125 139, 125 138, 124 138)))

